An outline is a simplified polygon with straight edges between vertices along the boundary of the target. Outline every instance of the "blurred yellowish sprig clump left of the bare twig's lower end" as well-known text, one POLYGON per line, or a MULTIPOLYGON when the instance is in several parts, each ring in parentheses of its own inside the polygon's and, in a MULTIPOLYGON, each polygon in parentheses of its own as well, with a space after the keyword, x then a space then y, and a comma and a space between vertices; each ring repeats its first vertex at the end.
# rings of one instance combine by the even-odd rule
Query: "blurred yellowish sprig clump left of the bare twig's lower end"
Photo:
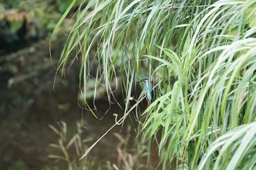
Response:
POLYGON ((80 123, 76 123, 77 132, 69 137, 67 131, 67 124, 64 121, 57 123, 58 128, 53 125, 49 125, 49 128, 58 136, 56 144, 50 144, 50 147, 55 150, 54 154, 48 155, 48 158, 53 159, 58 166, 56 169, 91 169, 94 167, 95 160, 78 161, 78 158, 87 147, 87 142, 90 142, 92 138, 81 139, 80 136, 83 132, 83 128, 80 123), (64 161, 63 164, 62 161, 64 161))

